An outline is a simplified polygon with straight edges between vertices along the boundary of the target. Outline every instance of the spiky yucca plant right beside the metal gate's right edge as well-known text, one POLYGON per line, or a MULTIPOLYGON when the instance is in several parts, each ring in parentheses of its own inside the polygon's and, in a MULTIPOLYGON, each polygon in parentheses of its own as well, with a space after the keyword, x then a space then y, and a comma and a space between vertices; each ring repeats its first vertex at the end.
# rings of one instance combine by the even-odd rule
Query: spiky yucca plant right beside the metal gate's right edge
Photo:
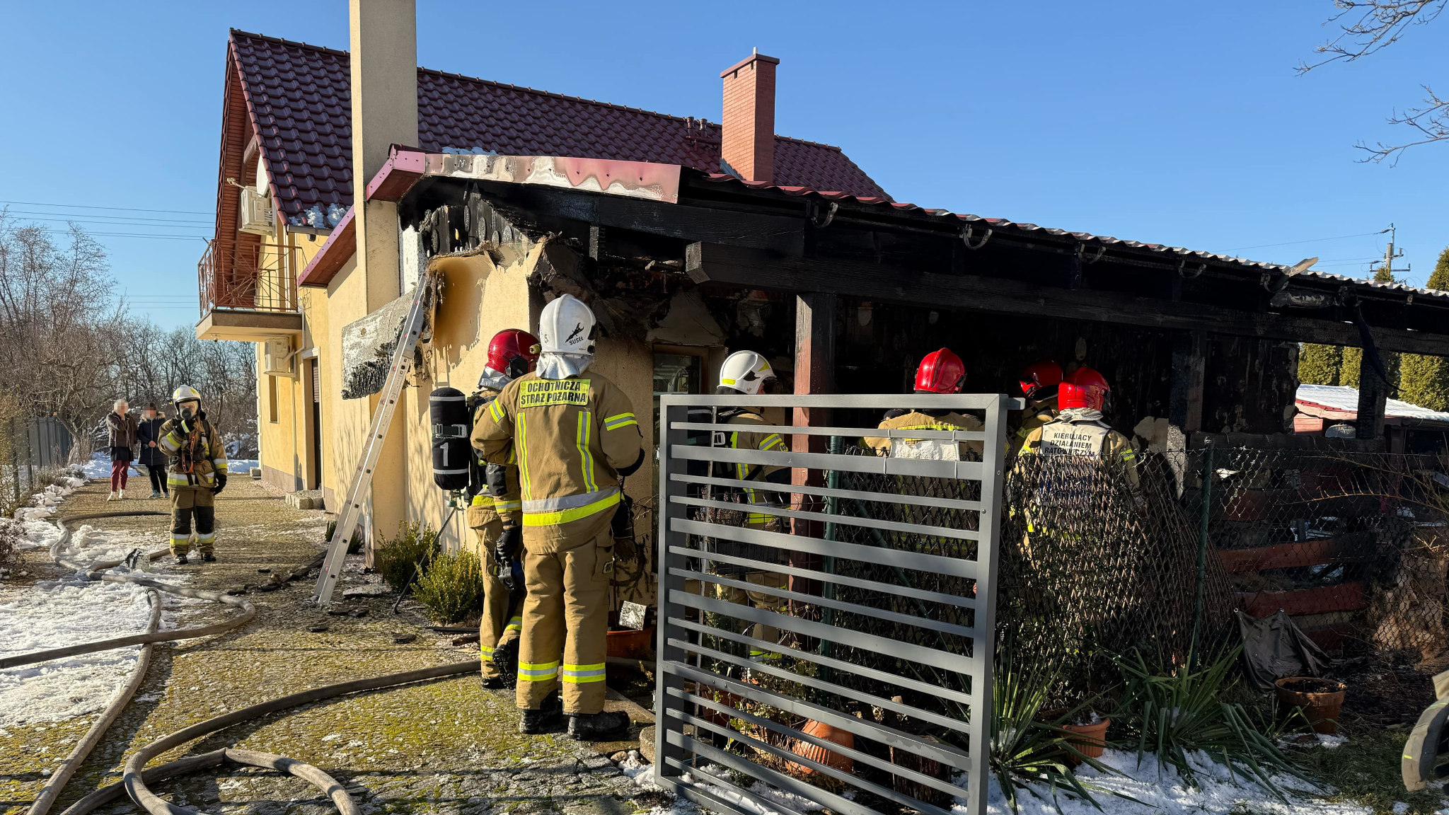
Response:
POLYGON ((1052 689, 1062 679, 1061 663, 1042 660, 1022 667, 1014 663, 1011 650, 1007 644, 997 654, 991 699, 991 773, 1000 782, 1011 812, 1017 811, 1017 792, 1029 790, 1027 785, 1032 783, 1046 785, 1053 802, 1058 790, 1081 798, 1097 809, 1101 809, 1101 805, 1093 798, 1093 792, 1136 800, 1072 774, 1068 757, 1103 773, 1117 773, 1097 758, 1082 756, 1066 741, 1072 734, 1064 725, 1091 700, 1064 711, 1049 721, 1037 721, 1051 702, 1052 689))

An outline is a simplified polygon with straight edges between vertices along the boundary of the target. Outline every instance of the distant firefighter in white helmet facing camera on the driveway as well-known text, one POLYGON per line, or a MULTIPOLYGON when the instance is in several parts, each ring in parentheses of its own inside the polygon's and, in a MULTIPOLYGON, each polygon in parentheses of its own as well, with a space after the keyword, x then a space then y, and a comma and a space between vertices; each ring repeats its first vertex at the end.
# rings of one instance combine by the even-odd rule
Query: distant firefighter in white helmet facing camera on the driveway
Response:
POLYGON ((196 550, 201 560, 216 560, 216 493, 226 489, 226 448, 201 410, 201 394, 183 384, 171 394, 175 418, 161 425, 156 447, 170 458, 171 554, 178 564, 191 551, 191 522, 196 521, 196 550))

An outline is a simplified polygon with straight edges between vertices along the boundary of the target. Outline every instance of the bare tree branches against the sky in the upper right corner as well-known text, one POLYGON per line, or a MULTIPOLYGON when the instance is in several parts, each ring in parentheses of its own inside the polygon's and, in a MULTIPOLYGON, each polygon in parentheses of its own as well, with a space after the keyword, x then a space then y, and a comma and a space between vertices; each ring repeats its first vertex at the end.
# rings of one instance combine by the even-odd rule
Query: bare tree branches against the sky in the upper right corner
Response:
MULTIPOLYGON (((1437 17, 1449 0, 1333 0, 1337 13, 1329 17, 1339 25, 1339 35, 1314 52, 1321 58, 1316 62, 1300 62, 1298 74, 1306 74, 1329 62, 1353 62, 1382 48, 1398 42, 1411 25, 1426 25, 1437 17)), ((1394 110, 1388 117, 1391 125, 1404 125, 1414 131, 1414 141, 1401 144, 1377 142, 1369 146, 1359 142, 1353 146, 1365 151, 1364 161, 1392 158, 1398 164, 1403 152, 1411 146, 1449 139, 1449 100, 1440 99, 1424 84, 1424 102, 1419 107, 1394 110)))

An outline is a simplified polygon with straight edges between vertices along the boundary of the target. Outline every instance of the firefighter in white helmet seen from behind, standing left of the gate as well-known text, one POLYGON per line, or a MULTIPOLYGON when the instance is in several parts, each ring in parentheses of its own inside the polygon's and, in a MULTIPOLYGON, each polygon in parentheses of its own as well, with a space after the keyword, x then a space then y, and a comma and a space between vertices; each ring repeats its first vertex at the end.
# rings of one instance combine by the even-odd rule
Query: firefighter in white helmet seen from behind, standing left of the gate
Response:
MULTIPOLYGON (((610 524, 623 476, 638 470, 645 455, 629 397, 607 378, 585 376, 594 361, 596 328, 594 313, 571 294, 543 306, 538 370, 509 383, 472 432, 487 461, 519 466, 527 586, 519 729, 545 732, 562 712, 577 740, 609 738, 629 728, 627 713, 604 711, 614 568, 610 524)), ((513 558, 517 538, 500 537, 498 563, 513 558)))

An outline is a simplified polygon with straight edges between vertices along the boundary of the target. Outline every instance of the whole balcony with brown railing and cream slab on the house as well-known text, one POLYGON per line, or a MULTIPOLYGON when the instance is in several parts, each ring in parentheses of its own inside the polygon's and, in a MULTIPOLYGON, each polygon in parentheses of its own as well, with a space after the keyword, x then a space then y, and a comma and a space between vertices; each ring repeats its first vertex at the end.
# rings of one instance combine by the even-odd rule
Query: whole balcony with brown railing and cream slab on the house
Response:
POLYGON ((297 271, 301 251, 291 245, 212 241, 197 268, 201 339, 261 342, 301 334, 297 271))

